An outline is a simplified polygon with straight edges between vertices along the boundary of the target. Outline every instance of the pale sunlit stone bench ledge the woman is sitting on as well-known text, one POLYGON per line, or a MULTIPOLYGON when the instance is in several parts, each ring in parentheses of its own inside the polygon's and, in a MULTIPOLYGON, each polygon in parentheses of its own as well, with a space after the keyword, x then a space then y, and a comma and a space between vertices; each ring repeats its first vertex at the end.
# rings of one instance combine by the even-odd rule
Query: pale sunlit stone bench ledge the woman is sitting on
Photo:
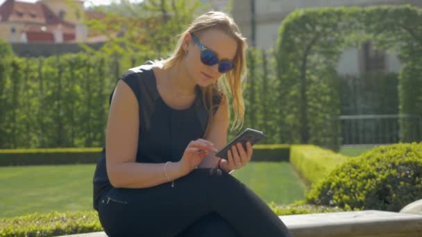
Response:
MULTIPOLYGON (((296 237, 422 236, 422 215, 409 213, 369 210, 279 217, 296 237)), ((104 232, 69 236, 107 237, 104 232)))

